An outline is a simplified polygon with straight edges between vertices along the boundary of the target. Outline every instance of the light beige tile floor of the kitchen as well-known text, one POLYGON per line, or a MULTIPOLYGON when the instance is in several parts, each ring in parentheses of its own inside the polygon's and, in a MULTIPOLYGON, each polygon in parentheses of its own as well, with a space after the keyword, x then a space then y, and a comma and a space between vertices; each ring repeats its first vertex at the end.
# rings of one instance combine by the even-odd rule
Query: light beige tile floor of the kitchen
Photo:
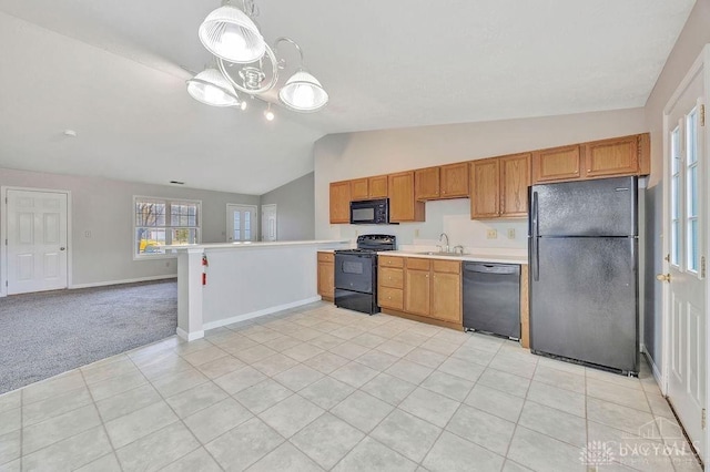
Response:
POLYGON ((646 365, 629 379, 327 304, 0 397, 1 471, 584 471, 585 452, 699 471, 678 438, 646 365))

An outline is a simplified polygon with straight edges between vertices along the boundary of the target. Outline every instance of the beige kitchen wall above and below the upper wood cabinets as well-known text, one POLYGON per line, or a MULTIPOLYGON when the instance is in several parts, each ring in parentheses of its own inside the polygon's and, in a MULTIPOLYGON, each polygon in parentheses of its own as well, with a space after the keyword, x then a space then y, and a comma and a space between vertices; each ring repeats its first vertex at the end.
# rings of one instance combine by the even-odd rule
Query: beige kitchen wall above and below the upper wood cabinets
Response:
POLYGON ((646 132, 643 109, 630 109, 327 135, 314 147, 315 235, 353 238, 356 232, 385 232, 395 234, 399 244, 430 244, 446 232, 452 245, 525 248, 525 220, 471 222, 468 199, 427 203, 424 224, 331 225, 328 183, 642 132, 646 132), (488 228, 498 230, 498 239, 486 238, 488 228), (515 229, 515 239, 506 237, 508 229, 515 229))

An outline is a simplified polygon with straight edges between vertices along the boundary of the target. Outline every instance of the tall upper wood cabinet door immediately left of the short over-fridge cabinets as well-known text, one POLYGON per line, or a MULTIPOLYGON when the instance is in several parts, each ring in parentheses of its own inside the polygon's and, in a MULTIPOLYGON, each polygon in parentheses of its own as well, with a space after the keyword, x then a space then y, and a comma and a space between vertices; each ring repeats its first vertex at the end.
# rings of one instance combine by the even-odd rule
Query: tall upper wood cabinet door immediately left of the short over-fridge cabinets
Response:
POLYGON ((530 154, 500 157, 500 216, 526 216, 530 154))

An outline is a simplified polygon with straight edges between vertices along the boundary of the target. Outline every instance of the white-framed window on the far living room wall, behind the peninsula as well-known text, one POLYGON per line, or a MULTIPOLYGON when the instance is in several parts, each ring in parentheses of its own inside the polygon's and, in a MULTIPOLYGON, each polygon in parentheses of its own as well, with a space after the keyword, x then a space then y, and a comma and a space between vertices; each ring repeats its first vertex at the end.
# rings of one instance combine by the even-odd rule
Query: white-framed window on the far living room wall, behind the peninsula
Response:
POLYGON ((133 197, 133 256, 164 256, 162 245, 200 243, 199 201, 133 197))

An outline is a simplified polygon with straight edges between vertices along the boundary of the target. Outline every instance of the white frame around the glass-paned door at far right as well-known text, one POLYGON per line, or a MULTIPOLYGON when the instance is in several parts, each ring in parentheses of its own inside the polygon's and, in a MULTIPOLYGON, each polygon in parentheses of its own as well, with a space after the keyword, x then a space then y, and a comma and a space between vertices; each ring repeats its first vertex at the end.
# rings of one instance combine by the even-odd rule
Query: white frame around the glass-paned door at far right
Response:
MULTIPOLYGON (((670 234, 667 232, 669 229, 667 227, 667 220, 670 212, 670 181, 667 178, 670 175, 670 140, 669 132, 674 126, 674 123, 670 123, 669 115, 673 110, 673 106, 681 98, 686 89, 690 85, 690 83, 697 78, 698 73, 702 70, 702 83, 703 83, 703 99, 706 105, 706 123, 704 127, 701 127, 701 132, 704 133, 703 138, 703 158, 704 158, 704 168, 706 171, 710 168, 710 123, 708 116, 708 105, 710 101, 708 96, 710 95, 710 44, 706 44, 691 68, 688 70, 683 80, 678 84, 676 91, 670 96, 666 106, 663 107, 663 175, 662 175, 662 185, 663 185, 663 205, 662 205, 662 237, 661 237, 661 255, 670 254, 670 234)), ((699 182, 700 188, 708 188, 710 186, 710 175, 708 172, 701 172, 700 177, 702 178, 699 182)), ((700 254, 701 256, 708 259, 708 250, 710 249, 710 206, 707 204, 700 205, 699 208, 700 216, 704 218, 704 238, 701 240, 700 254)), ((706 261, 708 264, 708 261, 706 261)), ((662 259, 662 268, 663 274, 668 274, 670 271, 670 261, 662 259)), ((707 270, 707 269, 706 269, 707 270)), ((660 366, 660 389, 663 396, 668 394, 668 382, 669 382, 669 371, 670 371, 670 286, 669 284, 661 285, 661 350, 662 350, 662 360, 660 366)), ((710 339, 710 277, 706 273, 704 277, 704 289, 706 289, 706 334, 704 339, 710 339)), ((710 376, 708 376, 708 367, 710 366, 710 349, 706 347, 706 359, 704 359, 704 377, 706 377, 706 401, 704 409, 710 412, 710 376)), ((710 453, 710 434, 708 433, 708 428, 703 430, 703 438, 700 438, 699 441, 703 441, 706 454, 710 453)), ((708 460, 708 458, 706 458, 708 460)))

